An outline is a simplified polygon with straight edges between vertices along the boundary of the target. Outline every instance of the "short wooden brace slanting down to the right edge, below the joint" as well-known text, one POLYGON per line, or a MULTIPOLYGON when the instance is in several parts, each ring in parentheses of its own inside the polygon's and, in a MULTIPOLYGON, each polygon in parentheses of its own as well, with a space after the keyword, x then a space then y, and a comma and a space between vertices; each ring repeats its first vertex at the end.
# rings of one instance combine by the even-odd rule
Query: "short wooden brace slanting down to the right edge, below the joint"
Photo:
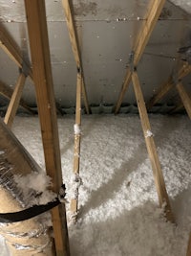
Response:
POLYGON ((179 92, 182 104, 184 105, 185 110, 186 110, 189 118, 191 119, 191 98, 188 95, 188 93, 186 92, 186 90, 184 89, 181 81, 176 85, 176 88, 179 92))

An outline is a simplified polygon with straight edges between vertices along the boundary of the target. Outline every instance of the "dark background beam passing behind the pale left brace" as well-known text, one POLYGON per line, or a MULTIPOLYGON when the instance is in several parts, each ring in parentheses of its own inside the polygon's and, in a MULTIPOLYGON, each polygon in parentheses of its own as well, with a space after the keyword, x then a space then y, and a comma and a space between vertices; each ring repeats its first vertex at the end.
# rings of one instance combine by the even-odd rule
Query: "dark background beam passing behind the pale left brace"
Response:
MULTIPOLYGON (((0 81, 0 94, 3 95, 8 100, 11 100, 13 90, 11 89, 10 86, 5 84, 3 81, 0 81)), ((33 111, 32 108, 29 105, 27 105, 22 98, 20 99, 19 105, 22 106, 25 110, 27 110, 31 114, 35 114, 35 111, 33 111)))

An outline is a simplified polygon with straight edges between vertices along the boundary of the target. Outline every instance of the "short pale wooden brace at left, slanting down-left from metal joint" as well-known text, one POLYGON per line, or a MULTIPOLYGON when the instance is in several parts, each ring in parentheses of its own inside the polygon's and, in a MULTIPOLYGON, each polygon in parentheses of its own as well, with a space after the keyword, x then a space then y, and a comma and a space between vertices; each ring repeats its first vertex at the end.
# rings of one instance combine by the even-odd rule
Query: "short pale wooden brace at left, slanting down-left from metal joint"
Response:
POLYGON ((21 73, 19 75, 18 81, 16 82, 16 85, 14 87, 14 91, 11 96, 11 102, 8 106, 8 109, 7 109, 5 118, 4 118, 4 122, 6 123, 6 125, 9 128, 11 128, 14 117, 16 115, 16 111, 17 111, 17 108, 18 108, 18 105, 19 105, 19 102, 21 99, 25 81, 26 81, 26 77, 23 73, 21 73))

